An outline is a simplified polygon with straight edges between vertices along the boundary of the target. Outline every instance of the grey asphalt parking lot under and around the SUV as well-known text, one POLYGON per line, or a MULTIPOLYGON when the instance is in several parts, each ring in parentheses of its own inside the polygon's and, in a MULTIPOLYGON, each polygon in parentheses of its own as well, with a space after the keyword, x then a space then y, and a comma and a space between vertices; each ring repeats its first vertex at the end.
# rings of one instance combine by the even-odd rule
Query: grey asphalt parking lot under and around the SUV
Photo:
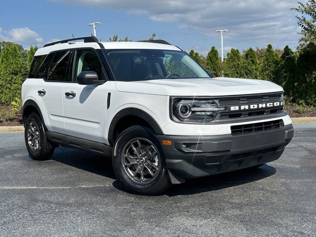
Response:
POLYGON ((0 134, 0 236, 316 236, 316 124, 295 125, 278 160, 131 195, 111 161, 59 147, 28 157, 0 134))

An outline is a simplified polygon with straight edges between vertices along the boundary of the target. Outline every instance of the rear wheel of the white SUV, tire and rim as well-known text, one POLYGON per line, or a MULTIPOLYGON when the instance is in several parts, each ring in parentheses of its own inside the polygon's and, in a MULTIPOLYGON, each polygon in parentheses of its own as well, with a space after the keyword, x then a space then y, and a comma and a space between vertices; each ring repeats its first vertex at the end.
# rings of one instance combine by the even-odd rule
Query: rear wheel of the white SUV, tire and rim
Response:
POLYGON ((53 155, 55 147, 47 141, 45 129, 38 114, 31 113, 26 119, 24 139, 32 159, 48 160, 53 155))

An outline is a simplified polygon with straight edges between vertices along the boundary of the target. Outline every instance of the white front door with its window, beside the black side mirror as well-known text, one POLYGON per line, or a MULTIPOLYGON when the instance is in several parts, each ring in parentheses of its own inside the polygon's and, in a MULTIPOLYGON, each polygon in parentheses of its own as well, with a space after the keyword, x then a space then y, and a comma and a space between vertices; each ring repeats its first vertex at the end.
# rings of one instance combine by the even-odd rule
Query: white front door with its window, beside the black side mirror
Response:
POLYGON ((83 71, 94 71, 99 80, 107 80, 94 49, 78 49, 73 63, 73 83, 65 83, 63 107, 65 134, 105 143, 107 96, 110 81, 101 85, 79 85, 77 76, 83 71))

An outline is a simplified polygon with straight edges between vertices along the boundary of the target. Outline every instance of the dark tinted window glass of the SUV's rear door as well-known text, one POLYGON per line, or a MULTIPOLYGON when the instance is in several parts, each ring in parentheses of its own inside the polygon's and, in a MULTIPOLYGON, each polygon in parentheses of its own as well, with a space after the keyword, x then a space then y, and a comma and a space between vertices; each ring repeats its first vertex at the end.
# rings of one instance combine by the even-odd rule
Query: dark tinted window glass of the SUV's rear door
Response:
POLYGON ((56 52, 49 66, 48 80, 69 81, 71 51, 56 52))

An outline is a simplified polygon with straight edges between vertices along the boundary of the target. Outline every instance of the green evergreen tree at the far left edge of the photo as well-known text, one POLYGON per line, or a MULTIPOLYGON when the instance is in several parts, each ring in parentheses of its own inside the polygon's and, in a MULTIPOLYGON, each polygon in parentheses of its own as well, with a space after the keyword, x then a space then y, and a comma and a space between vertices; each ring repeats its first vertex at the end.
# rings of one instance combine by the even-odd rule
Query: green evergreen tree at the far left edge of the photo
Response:
POLYGON ((0 56, 0 104, 10 105, 20 98, 23 65, 16 44, 4 45, 0 56))

